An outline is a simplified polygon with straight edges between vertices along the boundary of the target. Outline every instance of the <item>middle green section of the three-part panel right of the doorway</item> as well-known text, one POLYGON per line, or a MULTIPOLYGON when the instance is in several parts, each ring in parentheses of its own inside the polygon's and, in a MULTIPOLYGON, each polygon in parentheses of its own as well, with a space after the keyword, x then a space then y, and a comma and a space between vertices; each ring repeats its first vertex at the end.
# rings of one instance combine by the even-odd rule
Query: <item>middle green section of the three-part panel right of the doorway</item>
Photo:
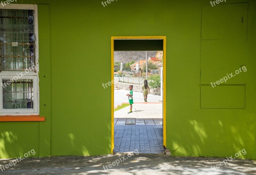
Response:
MULTIPOLYGON (((216 82, 227 73, 246 65, 246 39, 237 40, 202 40, 201 42, 201 84, 216 82)), ((245 72, 222 84, 245 84, 245 72)))

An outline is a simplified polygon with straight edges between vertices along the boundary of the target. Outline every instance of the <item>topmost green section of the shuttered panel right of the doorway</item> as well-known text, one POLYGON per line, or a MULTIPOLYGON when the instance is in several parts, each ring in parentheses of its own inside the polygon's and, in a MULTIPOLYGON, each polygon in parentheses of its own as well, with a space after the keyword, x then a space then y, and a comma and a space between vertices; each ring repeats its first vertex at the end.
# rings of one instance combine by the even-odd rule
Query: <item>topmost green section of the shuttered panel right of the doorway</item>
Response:
POLYGON ((202 6, 202 40, 246 39, 248 3, 202 6))

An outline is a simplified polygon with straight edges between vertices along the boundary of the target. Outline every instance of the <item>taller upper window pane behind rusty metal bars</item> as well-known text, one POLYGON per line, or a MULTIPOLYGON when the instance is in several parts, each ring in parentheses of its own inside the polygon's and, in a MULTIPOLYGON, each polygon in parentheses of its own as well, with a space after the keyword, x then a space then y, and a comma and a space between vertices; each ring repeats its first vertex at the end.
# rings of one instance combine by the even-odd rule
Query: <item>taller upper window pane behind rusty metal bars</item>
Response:
POLYGON ((32 70, 34 28, 34 10, 0 9, 1 71, 32 70))

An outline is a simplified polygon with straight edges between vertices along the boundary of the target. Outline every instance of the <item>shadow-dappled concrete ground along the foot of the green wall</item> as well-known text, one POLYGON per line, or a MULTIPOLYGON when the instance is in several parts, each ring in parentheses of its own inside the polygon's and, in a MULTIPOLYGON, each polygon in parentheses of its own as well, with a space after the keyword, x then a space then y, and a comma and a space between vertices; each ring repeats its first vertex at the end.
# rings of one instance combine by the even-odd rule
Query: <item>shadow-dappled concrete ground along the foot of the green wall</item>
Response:
MULTIPOLYGON (((16 166, 0 174, 256 174, 255 161, 235 159, 218 169, 224 158, 215 157, 174 157, 164 155, 103 155, 103 156, 54 156, 46 158, 25 158, 16 166), (123 157, 123 158, 122 158, 123 157), (124 160, 125 159, 125 160, 124 160), (118 160, 120 163, 118 163, 118 160), (111 168, 109 164, 115 162, 111 168), (118 163, 118 165, 116 164, 118 163), (105 167, 105 170, 103 168, 105 167), (107 168, 106 168, 107 166, 107 168)), ((0 167, 14 159, 0 159, 0 167)))

